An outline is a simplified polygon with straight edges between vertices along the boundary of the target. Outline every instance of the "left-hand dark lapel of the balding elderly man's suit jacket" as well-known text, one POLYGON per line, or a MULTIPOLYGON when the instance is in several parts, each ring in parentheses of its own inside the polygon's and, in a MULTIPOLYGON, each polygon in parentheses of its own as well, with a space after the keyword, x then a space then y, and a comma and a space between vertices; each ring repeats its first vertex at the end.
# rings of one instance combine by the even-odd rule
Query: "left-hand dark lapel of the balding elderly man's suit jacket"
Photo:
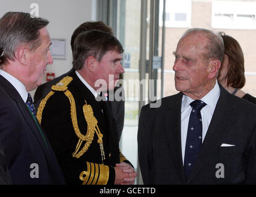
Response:
POLYGON ((168 111, 166 111, 165 129, 166 137, 168 139, 169 149, 173 156, 173 162, 176 166, 179 177, 182 182, 185 182, 182 153, 181 153, 181 101, 182 93, 174 95, 173 99, 170 99, 166 104, 168 111))

